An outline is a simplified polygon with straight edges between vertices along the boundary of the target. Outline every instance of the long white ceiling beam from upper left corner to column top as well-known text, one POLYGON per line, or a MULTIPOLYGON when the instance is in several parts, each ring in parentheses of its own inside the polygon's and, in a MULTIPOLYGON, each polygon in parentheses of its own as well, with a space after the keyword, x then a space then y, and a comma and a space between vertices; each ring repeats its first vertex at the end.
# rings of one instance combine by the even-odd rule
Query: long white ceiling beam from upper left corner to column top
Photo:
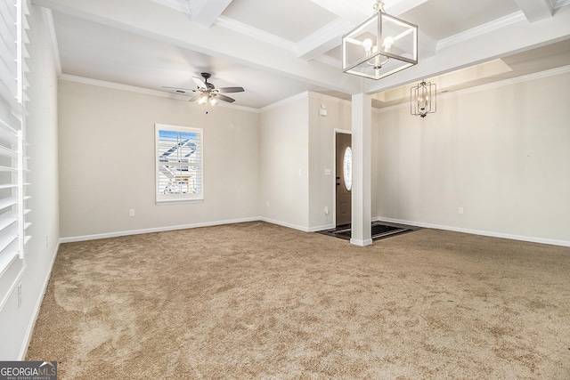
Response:
POLYGON ((194 52, 273 72, 343 93, 362 93, 362 81, 319 61, 303 61, 281 46, 215 24, 205 29, 183 12, 141 0, 32 0, 33 4, 120 28, 194 52), (133 12, 136 9, 137 12, 133 12))

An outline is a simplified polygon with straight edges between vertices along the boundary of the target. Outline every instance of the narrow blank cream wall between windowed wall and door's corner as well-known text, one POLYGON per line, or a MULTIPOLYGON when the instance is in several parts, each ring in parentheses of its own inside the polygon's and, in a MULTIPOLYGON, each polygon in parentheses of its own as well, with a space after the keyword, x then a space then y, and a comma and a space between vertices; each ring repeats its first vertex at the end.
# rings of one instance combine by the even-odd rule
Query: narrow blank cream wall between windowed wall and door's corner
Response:
POLYGON ((308 125, 306 93, 262 109, 260 115, 260 214, 297 230, 309 228, 308 125))

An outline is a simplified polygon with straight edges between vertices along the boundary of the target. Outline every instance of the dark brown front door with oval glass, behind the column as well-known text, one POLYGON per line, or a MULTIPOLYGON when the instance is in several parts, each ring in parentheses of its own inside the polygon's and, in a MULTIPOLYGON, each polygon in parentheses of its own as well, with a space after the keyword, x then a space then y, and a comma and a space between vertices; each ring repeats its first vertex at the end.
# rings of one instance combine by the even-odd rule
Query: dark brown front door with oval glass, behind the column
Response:
POLYGON ((336 174, 337 174, 337 226, 352 222, 353 151, 352 135, 337 133, 336 174))

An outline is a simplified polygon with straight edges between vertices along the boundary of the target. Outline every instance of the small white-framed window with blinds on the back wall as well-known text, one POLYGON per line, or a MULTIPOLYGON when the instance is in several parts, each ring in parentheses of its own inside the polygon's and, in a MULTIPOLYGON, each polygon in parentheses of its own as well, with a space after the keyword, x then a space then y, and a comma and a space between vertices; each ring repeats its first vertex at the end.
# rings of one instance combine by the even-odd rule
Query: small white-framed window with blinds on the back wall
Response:
POLYGON ((204 198, 202 129, 155 125, 157 203, 204 198))

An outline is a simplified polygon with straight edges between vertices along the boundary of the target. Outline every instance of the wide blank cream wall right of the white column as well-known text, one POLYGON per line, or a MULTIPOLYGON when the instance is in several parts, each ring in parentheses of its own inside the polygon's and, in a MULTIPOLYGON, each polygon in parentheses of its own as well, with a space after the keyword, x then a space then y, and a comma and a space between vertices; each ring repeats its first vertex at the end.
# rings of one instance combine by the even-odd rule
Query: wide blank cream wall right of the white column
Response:
POLYGON ((570 73, 379 113, 380 218, 570 244, 570 73), (464 214, 458 214, 463 207, 464 214))

